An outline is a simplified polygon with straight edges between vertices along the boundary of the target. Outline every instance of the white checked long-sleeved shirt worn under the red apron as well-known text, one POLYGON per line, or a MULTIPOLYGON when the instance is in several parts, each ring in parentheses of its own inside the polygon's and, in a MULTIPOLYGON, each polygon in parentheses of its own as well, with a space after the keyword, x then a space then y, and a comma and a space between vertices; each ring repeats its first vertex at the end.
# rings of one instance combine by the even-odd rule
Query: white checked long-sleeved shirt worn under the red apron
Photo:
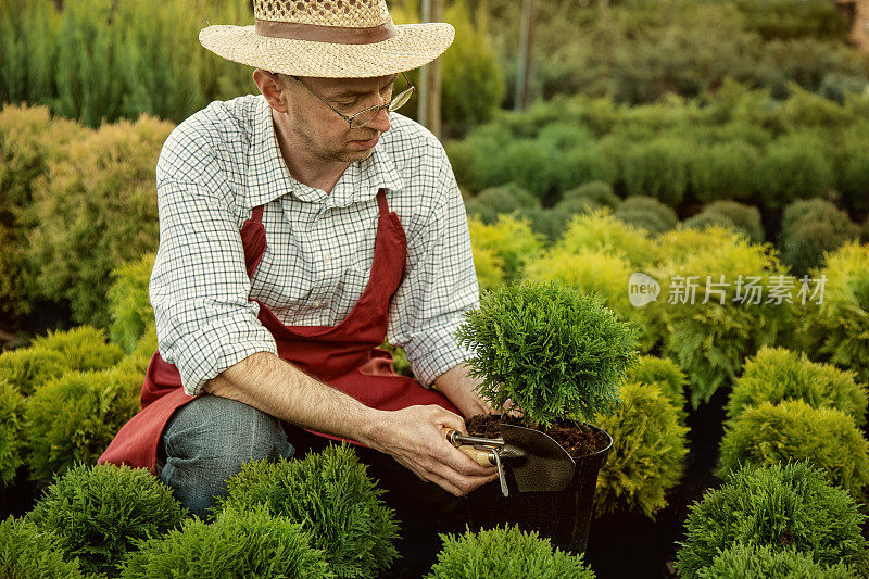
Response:
POLYGON ((465 207, 443 147, 413 121, 352 163, 330 194, 294 180, 261 95, 215 101, 172 133, 156 165, 160 248, 149 286, 160 353, 188 394, 255 352, 277 353, 262 301, 286 326, 335 326, 371 270, 378 209, 404 227, 404 279, 389 309, 390 343, 426 387, 466 357, 453 337, 479 304, 465 207), (265 205, 268 247, 252 279, 239 231, 265 205))

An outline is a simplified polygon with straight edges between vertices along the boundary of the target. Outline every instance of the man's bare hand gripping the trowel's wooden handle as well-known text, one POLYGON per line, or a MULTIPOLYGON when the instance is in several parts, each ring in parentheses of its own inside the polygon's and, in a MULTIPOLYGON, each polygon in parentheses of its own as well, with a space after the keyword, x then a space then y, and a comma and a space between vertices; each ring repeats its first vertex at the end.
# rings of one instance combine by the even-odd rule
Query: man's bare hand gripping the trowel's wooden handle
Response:
POLYGON ((467 435, 465 423, 434 404, 383 412, 373 433, 375 449, 390 454, 421 480, 462 496, 498 478, 495 467, 483 467, 450 444, 443 427, 467 435))

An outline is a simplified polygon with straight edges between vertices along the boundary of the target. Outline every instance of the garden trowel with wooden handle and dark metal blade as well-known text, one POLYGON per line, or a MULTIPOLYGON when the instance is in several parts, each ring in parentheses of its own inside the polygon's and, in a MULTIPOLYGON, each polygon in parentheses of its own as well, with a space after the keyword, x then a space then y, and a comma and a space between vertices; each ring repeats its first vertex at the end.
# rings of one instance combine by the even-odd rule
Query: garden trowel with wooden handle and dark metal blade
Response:
POLYGON ((521 426, 499 427, 502 438, 466 437, 457 430, 444 430, 446 440, 477 464, 498 468, 504 496, 508 492, 502 463, 513 469, 519 492, 561 491, 570 483, 576 463, 552 437, 521 426))

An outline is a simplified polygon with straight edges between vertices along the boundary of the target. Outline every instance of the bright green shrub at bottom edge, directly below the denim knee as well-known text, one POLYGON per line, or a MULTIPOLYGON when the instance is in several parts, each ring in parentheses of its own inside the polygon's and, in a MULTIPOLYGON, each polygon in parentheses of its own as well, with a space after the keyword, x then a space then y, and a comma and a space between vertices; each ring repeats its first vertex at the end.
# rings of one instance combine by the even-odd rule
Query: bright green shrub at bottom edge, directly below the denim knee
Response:
POLYGON ((212 525, 187 519, 180 530, 140 543, 139 550, 124 561, 121 577, 336 577, 323 551, 311 543, 302 525, 272 517, 264 508, 229 509, 212 525))

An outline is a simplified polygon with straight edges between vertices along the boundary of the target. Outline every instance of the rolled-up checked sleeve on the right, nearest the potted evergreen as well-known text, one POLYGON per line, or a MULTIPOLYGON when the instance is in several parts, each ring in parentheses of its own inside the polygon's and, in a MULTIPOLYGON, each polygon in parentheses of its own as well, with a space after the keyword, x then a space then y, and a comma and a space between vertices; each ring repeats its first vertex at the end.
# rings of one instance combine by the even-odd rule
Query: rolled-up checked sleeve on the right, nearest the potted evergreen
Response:
POLYGON ((429 388, 468 357, 455 339, 463 313, 479 306, 479 286, 470 251, 467 216, 443 148, 429 193, 431 214, 407 240, 405 278, 390 306, 391 343, 404 348, 419 382, 429 388))

